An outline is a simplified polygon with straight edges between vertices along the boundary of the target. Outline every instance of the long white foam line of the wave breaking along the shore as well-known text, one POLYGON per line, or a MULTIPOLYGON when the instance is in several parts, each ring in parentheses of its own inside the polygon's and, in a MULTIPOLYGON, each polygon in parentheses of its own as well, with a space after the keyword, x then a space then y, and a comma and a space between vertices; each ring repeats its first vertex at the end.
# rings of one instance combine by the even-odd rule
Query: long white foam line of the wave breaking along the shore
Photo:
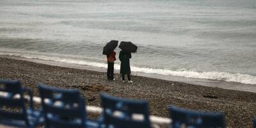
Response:
MULTIPOLYGON (((63 58, 58 56, 44 56, 38 54, 20 54, 20 53, 10 53, 10 52, 0 52, 0 55, 8 56, 19 56, 22 58, 47 60, 47 61, 57 61, 62 63, 72 63, 77 65, 88 65, 92 67, 107 68, 106 63, 91 62, 85 60, 77 60, 72 58, 63 58)), ((115 64, 115 69, 120 70, 120 65, 115 64)), ((229 81, 237 82, 243 84, 256 84, 256 76, 251 76, 248 74, 232 74, 229 72, 196 72, 193 70, 167 70, 160 68, 145 68, 145 67, 131 67, 132 72, 143 72, 147 74, 160 74, 164 76, 179 76, 179 77, 189 77, 196 79, 212 79, 219 81, 229 81)))

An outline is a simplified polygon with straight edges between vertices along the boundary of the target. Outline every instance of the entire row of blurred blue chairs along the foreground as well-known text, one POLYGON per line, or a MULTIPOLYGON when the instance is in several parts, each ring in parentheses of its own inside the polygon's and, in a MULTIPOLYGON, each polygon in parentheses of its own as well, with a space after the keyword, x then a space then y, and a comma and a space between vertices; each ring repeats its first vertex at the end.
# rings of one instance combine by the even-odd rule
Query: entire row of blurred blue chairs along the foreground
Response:
MULTIPOLYGON (((38 84, 42 108, 29 109, 24 100, 24 93, 33 99, 29 88, 24 88, 20 81, 0 81, 0 123, 15 127, 33 128, 44 124, 46 128, 102 127, 102 128, 150 128, 149 105, 147 100, 129 100, 100 93, 102 116, 99 120, 90 120, 86 115, 85 101, 78 90, 55 88, 42 83, 38 84), (2 93, 3 94, 3 93, 2 93), (20 95, 17 99, 15 95, 20 95), (15 98, 16 97, 16 98, 15 98), (15 108, 15 109, 11 109, 15 108), (118 116, 116 116, 118 114, 118 116), (133 115, 143 116, 143 120, 134 120, 133 115)), ((170 127, 225 127, 223 113, 203 113, 170 106, 172 124, 170 127)), ((256 119, 254 120, 256 128, 256 119)))

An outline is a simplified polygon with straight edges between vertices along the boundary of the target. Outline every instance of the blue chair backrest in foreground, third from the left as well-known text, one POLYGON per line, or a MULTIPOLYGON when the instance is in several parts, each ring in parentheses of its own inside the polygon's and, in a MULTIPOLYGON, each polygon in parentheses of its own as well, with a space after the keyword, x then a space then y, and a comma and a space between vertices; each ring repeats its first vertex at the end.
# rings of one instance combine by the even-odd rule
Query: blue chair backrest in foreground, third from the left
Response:
POLYGON ((107 127, 149 128, 148 102, 145 100, 128 100, 100 93, 103 111, 103 123, 107 127), (134 120, 134 116, 141 120, 134 120))

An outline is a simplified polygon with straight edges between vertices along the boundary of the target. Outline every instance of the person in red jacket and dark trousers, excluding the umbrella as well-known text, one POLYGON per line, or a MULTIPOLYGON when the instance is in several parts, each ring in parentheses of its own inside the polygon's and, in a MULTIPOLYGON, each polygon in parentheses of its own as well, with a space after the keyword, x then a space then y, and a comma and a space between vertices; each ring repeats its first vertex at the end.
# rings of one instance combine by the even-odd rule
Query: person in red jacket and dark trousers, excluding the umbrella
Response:
POLYGON ((107 61, 108 61, 108 72, 107 76, 109 80, 115 81, 114 79, 114 61, 116 60, 116 52, 113 51, 110 54, 107 55, 107 61))

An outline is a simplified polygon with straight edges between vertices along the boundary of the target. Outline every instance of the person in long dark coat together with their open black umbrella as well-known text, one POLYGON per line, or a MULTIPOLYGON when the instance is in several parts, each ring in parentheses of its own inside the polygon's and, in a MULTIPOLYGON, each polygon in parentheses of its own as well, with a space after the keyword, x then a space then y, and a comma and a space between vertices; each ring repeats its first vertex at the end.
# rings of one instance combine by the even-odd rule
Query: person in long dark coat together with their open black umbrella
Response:
POLYGON ((122 82, 125 81, 125 74, 127 74, 128 83, 132 83, 130 75, 130 58, 132 58, 131 52, 137 51, 137 46, 132 44, 132 42, 121 42, 119 47, 122 49, 122 51, 119 53, 119 60, 121 61, 120 74, 122 74, 122 82))

